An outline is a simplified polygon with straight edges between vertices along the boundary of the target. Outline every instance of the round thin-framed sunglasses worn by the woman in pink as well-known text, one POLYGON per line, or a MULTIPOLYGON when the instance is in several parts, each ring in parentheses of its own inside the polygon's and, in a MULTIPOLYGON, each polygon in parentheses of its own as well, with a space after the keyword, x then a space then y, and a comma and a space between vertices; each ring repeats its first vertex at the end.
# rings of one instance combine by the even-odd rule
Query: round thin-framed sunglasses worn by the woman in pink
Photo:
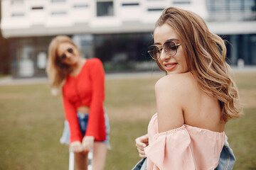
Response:
POLYGON ((164 50, 164 52, 166 52, 167 55, 172 57, 172 56, 176 55, 178 45, 181 45, 181 43, 176 44, 174 41, 168 40, 168 41, 164 42, 164 45, 150 45, 148 52, 149 52, 149 55, 154 60, 159 59, 159 57, 161 55, 161 50, 164 50))

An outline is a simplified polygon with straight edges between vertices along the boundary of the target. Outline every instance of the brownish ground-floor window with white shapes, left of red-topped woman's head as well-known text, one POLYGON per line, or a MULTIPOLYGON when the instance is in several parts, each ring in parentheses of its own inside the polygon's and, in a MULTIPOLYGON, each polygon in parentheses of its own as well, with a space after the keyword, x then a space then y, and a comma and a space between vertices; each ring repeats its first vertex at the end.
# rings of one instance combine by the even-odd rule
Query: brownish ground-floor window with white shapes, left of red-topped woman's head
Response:
POLYGON ((46 77, 48 45, 52 36, 10 39, 13 77, 46 77))

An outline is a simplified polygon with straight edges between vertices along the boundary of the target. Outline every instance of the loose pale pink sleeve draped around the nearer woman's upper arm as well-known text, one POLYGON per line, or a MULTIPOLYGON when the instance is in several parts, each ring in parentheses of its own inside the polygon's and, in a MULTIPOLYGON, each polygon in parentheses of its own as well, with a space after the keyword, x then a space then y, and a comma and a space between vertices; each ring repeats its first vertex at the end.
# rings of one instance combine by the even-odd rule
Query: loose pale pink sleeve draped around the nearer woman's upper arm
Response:
POLYGON ((191 137, 185 125, 154 135, 154 142, 144 150, 149 160, 148 169, 194 170, 191 137))

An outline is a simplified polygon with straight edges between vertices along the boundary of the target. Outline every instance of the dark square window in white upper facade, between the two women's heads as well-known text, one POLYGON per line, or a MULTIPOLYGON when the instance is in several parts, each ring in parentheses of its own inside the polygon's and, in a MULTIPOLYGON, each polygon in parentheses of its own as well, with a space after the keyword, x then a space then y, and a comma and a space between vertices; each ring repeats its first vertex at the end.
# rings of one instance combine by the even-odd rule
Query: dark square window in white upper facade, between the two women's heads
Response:
POLYGON ((113 1, 97 1, 97 16, 114 16, 113 1))

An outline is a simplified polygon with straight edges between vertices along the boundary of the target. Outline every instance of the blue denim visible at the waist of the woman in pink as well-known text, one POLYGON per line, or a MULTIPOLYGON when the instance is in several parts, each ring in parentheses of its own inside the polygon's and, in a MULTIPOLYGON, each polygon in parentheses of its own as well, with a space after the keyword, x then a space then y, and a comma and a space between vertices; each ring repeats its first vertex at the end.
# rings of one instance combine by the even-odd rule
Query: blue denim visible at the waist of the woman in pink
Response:
MULTIPOLYGON (((228 144, 228 137, 225 137, 225 144, 220 153, 220 159, 217 168, 215 170, 232 170, 235 164, 235 155, 228 144)), ((132 170, 146 170, 146 158, 140 160, 132 170)))

